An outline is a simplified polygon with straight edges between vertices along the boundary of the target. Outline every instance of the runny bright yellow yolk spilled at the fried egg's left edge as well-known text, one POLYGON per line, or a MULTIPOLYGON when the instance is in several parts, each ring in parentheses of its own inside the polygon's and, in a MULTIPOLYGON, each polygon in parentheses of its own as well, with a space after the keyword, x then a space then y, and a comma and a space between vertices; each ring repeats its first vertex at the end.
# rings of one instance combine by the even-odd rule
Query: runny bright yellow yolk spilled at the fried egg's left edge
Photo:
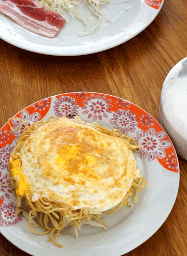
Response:
POLYGON ((24 196, 25 190, 28 190, 30 188, 29 183, 25 180, 25 177, 23 173, 21 172, 21 169, 19 168, 19 160, 10 160, 10 173, 12 176, 19 176, 18 180, 18 187, 16 189, 16 194, 19 196, 24 196))

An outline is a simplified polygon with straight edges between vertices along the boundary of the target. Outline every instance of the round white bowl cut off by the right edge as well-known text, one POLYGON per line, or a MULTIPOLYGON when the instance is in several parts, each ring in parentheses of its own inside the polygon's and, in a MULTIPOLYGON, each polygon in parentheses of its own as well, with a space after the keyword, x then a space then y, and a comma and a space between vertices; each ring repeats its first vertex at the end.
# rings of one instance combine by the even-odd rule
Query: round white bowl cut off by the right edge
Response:
POLYGON ((159 122, 165 128, 177 152, 187 160, 187 57, 168 73, 163 84, 159 122))

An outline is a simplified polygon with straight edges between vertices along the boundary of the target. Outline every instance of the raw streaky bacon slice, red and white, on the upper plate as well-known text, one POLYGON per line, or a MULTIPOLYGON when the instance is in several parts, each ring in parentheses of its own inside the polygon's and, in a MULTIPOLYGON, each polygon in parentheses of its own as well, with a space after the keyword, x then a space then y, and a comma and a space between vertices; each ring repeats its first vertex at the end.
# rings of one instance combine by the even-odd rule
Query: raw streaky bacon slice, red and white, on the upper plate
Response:
POLYGON ((65 19, 53 11, 47 11, 35 0, 0 0, 0 12, 25 29, 47 37, 54 37, 65 19))

